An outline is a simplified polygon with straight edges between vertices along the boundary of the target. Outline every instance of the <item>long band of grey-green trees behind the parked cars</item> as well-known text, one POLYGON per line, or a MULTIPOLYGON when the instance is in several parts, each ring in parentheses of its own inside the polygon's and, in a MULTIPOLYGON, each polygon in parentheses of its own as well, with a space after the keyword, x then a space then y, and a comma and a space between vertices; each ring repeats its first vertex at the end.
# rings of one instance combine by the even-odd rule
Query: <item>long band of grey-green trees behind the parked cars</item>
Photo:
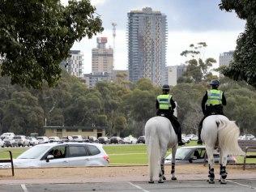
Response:
MULTIPOLYGON (((79 79, 62 74, 58 86, 41 90, 11 85, 0 78, 0 132, 44 134, 44 126, 106 126, 107 134, 143 134, 145 122, 156 114, 160 87, 148 79, 137 83, 118 75, 112 83, 100 82, 88 89, 79 79)), ((236 120, 241 133, 256 134, 256 92, 246 83, 220 79, 227 97, 224 113, 236 120)), ((177 100, 178 119, 183 133, 197 133, 203 117, 201 100, 208 83, 179 83, 171 93, 177 100)))

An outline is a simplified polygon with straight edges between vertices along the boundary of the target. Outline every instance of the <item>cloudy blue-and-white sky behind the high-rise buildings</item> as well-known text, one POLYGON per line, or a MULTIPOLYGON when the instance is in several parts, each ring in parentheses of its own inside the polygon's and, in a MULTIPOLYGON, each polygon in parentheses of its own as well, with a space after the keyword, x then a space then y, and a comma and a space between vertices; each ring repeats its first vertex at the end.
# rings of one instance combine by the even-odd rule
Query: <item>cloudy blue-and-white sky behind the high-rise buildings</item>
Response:
MULTIPOLYGON (((103 21, 104 32, 75 42, 72 49, 83 53, 83 73, 92 72, 92 48, 96 37, 108 37, 107 46, 113 47, 112 25, 117 23, 114 69, 128 69, 127 13, 150 6, 167 16, 168 42, 166 65, 175 66, 186 62, 180 53, 190 44, 206 42, 204 58, 215 58, 219 66, 220 53, 236 48, 237 36, 244 31, 245 21, 233 12, 221 11, 220 0, 92 0, 96 13, 103 21)), ((62 0, 63 4, 67 0, 62 0)))

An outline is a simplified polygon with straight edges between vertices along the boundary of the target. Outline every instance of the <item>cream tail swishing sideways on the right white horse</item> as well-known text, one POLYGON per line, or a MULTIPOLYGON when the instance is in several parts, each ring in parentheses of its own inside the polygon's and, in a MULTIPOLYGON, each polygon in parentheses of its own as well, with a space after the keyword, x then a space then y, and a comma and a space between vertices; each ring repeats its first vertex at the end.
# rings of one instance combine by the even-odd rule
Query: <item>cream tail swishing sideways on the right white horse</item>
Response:
POLYGON ((240 130, 236 123, 224 119, 217 120, 216 123, 219 124, 219 147, 227 151, 228 155, 244 155, 244 151, 238 145, 240 130))

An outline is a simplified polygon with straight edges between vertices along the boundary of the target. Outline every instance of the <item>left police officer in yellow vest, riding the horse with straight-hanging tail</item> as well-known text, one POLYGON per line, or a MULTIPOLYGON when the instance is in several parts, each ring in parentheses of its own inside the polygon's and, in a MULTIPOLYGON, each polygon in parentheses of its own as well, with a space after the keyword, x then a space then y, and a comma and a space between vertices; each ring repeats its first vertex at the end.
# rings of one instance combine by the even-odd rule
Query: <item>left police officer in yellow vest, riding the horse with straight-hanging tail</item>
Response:
POLYGON ((178 145, 184 145, 185 143, 181 139, 181 125, 177 121, 177 117, 173 115, 173 109, 176 108, 176 104, 173 96, 169 94, 169 85, 164 84, 162 90, 163 94, 156 97, 156 115, 167 117, 172 122, 175 133, 177 134, 178 145))

